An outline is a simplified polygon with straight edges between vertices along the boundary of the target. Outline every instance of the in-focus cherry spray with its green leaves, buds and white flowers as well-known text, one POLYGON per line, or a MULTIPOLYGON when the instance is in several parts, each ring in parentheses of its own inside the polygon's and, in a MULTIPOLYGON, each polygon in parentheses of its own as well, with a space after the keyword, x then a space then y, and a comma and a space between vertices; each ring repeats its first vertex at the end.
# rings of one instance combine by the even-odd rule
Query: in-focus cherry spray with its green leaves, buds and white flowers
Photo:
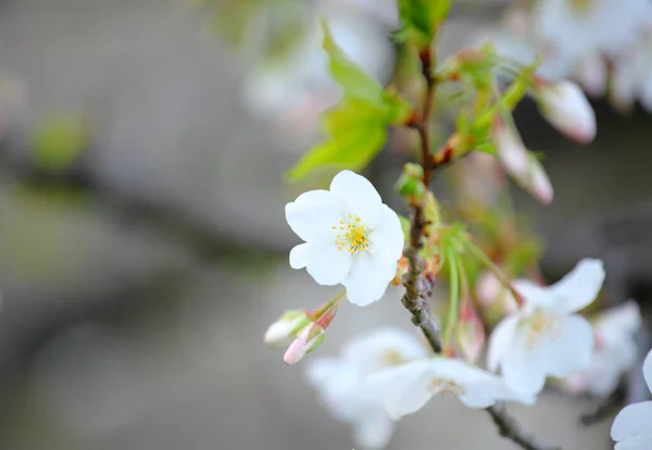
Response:
MULTIPOLYGON (((333 5, 354 3, 368 7, 364 0, 333 5)), ((612 0, 550 0, 534 3, 531 17, 544 24, 550 18, 542 17, 553 14, 550 9, 566 7, 579 14, 575 11, 578 3, 587 16, 600 11, 600 21, 613 7, 612 0)), ((368 307, 400 299, 425 337, 422 341, 405 330, 378 328, 354 337, 337 358, 306 362, 308 383, 337 418, 350 424, 363 448, 384 448, 396 421, 441 395, 453 396, 471 409, 489 409, 494 420, 499 417, 497 423, 512 423, 494 407, 503 402, 531 405, 549 383, 572 395, 606 398, 638 360, 635 338, 642 321, 637 304, 628 302, 587 318, 585 311, 599 297, 605 279, 603 263, 597 259, 579 261, 556 284, 544 286, 538 248, 528 247, 513 211, 506 211, 511 201, 504 179, 484 177, 485 184, 469 189, 482 200, 469 203, 468 210, 461 202, 460 210, 471 216, 475 213, 469 222, 480 224, 479 238, 464 222, 448 222, 448 214, 442 218, 448 211, 430 190, 434 172, 465 157, 474 163, 480 161, 474 157, 492 158, 489 164, 480 161, 476 170, 499 167, 500 177, 509 174, 539 201, 553 200, 543 165, 523 143, 512 117, 525 96, 534 98, 552 126, 577 142, 588 143, 597 133, 595 115, 582 89, 562 79, 569 72, 551 72, 548 53, 539 65, 525 62, 523 54, 505 54, 501 43, 494 42, 464 49, 441 63, 434 61, 432 42, 449 7, 447 1, 399 2, 394 26, 400 29, 394 39, 417 50, 410 54, 418 59, 415 62, 425 82, 421 107, 394 86, 384 87, 373 70, 356 64, 339 47, 341 38, 335 28, 322 22, 328 57, 324 62, 341 97, 322 115, 325 140, 287 175, 293 180, 316 168, 341 170, 328 189, 310 190, 287 203, 285 216, 301 239, 289 253, 290 266, 305 270, 318 285, 341 285, 342 290, 314 310, 285 313, 268 328, 265 341, 288 346, 284 361, 299 363, 330 333, 346 300, 368 307), (460 89, 460 95, 454 96, 452 107, 454 132, 434 151, 430 114, 439 84, 460 89), (381 151, 390 126, 417 132, 414 136, 421 143, 421 164, 405 164, 396 184, 411 210, 410 218, 397 214, 369 180, 353 172, 381 151), (469 211, 471 207, 476 209, 469 211), (440 282, 448 288, 446 302, 434 295, 434 285, 440 282)), ((569 11, 565 14, 573 16, 569 11)), ((617 35, 623 45, 638 38, 644 22, 636 14, 629 18, 630 32, 617 35)), ((541 24, 531 28, 523 33, 530 36, 547 29, 541 24)), ((557 57, 568 62, 595 48, 610 51, 601 47, 602 38, 589 40, 575 42, 575 52, 566 49, 568 54, 557 57)), ((622 413, 625 418, 614 423, 617 448, 630 448, 641 436, 648 438, 640 430, 642 420, 631 418, 631 411, 641 408, 647 407, 628 407, 622 413)), ((507 433, 501 426, 501 434, 524 448, 538 448, 524 443, 528 438, 513 428, 507 433)))

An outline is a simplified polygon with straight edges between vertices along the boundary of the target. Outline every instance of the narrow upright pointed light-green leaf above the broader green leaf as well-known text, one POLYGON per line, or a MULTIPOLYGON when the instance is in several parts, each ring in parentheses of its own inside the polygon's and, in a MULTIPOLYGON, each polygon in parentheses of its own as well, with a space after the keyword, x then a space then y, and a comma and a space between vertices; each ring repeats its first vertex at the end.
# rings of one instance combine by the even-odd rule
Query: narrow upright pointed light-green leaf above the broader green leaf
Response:
POLYGON ((322 20, 324 50, 328 53, 330 74, 349 97, 358 97, 377 107, 384 107, 383 86, 362 71, 337 46, 326 20, 322 20))

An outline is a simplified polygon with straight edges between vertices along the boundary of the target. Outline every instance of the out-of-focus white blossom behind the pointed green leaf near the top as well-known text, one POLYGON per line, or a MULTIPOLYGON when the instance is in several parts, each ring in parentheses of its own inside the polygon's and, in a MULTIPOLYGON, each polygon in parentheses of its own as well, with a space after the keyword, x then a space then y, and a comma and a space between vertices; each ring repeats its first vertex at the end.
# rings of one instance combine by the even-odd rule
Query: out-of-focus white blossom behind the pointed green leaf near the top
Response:
POLYGON ((244 80, 244 104, 254 114, 275 122, 293 140, 315 134, 318 116, 340 98, 322 48, 318 16, 328 18, 334 40, 351 61, 379 80, 388 76, 393 59, 388 30, 378 25, 363 3, 321 1, 314 11, 306 11, 305 34, 297 37, 286 54, 254 68, 244 80))

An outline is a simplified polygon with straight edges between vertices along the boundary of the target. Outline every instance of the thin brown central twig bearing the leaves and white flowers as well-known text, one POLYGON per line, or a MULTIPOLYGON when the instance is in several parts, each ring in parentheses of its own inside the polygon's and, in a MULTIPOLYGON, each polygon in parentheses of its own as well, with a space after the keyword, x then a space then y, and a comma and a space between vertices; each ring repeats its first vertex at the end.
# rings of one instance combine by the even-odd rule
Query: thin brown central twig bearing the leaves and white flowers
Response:
MULTIPOLYGON (((409 126, 415 128, 418 132, 421 138, 421 164, 423 168, 422 182, 426 189, 430 189, 430 182, 435 170, 438 167, 437 163, 434 163, 434 158, 430 154, 430 140, 428 124, 430 113, 432 111, 432 102, 437 84, 432 77, 432 64, 435 61, 434 54, 430 49, 425 49, 419 52, 419 59, 422 63, 422 74, 426 82, 426 99, 424 102, 424 111, 422 114, 413 114, 409 126)), ((440 158, 443 164, 450 162, 452 159, 452 149, 446 153, 444 157, 440 158)), ((422 276, 424 271, 424 261, 419 255, 419 250, 423 248, 423 238, 427 221, 425 218, 423 199, 421 203, 412 204, 412 211, 410 216, 410 242, 404 251, 405 258, 409 262, 409 271, 403 276, 403 285, 405 286, 405 295, 401 299, 403 305, 412 313, 412 323, 418 326, 430 347, 436 353, 440 353, 443 348, 443 341, 441 338, 441 330, 438 324, 430 315, 429 299, 432 293, 432 287, 427 278, 422 276)), ((521 426, 516 421, 506 414, 502 404, 496 404, 494 407, 488 408, 487 412, 493 418, 493 422, 499 428, 500 435, 511 439, 514 443, 521 446, 525 450, 548 450, 547 447, 541 447, 535 443, 532 436, 527 435, 522 430, 521 426)))

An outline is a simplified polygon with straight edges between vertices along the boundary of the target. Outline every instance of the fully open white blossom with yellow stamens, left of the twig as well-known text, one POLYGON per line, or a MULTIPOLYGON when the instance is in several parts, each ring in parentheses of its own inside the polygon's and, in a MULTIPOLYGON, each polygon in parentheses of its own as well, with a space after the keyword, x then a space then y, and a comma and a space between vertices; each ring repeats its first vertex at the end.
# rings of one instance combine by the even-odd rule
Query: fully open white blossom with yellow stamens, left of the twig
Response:
POLYGON ((341 283, 360 307, 383 297, 404 237, 399 217, 366 178, 340 172, 330 190, 311 190, 288 203, 286 220, 305 241, 290 251, 292 268, 305 267, 319 285, 341 283))

